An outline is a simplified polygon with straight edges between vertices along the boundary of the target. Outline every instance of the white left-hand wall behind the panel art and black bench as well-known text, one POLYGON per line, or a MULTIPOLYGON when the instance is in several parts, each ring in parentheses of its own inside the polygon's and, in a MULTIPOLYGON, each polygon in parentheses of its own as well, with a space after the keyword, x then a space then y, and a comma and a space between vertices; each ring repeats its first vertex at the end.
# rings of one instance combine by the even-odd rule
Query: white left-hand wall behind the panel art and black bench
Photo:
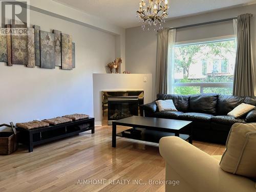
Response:
POLYGON ((93 116, 92 74, 105 73, 106 63, 115 59, 116 35, 36 11, 31 11, 30 16, 31 25, 39 25, 41 30, 56 29, 73 36, 76 69, 7 67, 0 62, 0 123, 72 113, 93 116))

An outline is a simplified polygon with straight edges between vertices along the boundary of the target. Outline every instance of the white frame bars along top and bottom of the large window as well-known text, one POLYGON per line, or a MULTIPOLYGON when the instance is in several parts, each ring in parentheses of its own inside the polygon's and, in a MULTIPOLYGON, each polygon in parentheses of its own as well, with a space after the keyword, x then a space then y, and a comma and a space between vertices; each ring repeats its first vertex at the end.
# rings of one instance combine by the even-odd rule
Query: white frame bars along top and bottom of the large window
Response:
MULTIPOLYGON (((205 44, 207 42, 236 40, 236 36, 227 35, 216 38, 198 39, 191 41, 176 42, 175 48, 186 45, 205 44)), ((220 67, 221 68, 221 67, 220 67)), ((200 87, 200 93, 203 94, 204 88, 233 88, 233 82, 188 82, 188 83, 174 83, 175 87, 200 87)))

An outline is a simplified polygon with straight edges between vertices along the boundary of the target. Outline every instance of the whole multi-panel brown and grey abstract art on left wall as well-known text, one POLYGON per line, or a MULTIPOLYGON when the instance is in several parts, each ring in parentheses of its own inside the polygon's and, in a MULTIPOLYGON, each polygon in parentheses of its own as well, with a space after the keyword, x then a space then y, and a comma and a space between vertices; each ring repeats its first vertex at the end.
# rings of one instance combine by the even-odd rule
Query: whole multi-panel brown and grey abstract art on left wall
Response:
POLYGON ((76 67, 76 48, 71 35, 58 30, 41 31, 37 25, 28 28, 27 23, 12 19, 11 25, 2 29, 5 33, 0 33, 0 62, 7 62, 7 66, 47 69, 58 66, 63 70, 76 67))

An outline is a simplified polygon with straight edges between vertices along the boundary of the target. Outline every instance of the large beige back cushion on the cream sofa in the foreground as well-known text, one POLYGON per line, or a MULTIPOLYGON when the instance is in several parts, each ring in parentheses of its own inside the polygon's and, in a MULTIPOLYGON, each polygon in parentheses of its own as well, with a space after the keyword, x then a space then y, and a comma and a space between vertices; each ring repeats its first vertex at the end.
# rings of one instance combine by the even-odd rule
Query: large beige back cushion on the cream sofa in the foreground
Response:
POLYGON ((256 123, 235 123, 220 166, 226 172, 256 179, 256 123))

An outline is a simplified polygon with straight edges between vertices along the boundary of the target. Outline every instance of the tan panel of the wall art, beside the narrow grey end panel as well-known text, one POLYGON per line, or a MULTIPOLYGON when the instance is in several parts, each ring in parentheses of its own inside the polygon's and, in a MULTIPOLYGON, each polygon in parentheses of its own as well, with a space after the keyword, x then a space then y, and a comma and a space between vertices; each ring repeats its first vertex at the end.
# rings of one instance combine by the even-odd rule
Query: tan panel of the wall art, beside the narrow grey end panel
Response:
POLYGON ((72 36, 61 33, 61 69, 72 70, 72 36))

